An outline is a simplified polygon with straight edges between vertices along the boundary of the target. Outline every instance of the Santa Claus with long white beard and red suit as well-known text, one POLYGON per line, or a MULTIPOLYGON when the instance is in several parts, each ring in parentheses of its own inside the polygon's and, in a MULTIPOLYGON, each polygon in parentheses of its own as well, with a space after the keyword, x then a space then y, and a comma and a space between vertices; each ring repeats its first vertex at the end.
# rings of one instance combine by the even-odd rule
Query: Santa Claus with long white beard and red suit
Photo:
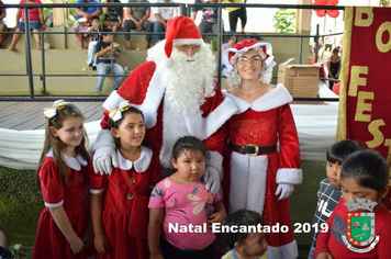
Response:
MULTIPOLYGON (((224 126, 236 105, 224 99, 213 78, 215 60, 194 22, 187 16, 168 21, 166 40, 148 50, 147 61, 138 66, 103 103, 114 109, 127 100, 141 109, 147 128, 145 144, 159 154, 163 174, 172 168, 171 150, 185 135, 204 140, 210 150, 204 180, 213 193, 220 188, 224 126)), ((96 172, 111 172, 118 166, 115 144, 107 116, 91 147, 96 172)))

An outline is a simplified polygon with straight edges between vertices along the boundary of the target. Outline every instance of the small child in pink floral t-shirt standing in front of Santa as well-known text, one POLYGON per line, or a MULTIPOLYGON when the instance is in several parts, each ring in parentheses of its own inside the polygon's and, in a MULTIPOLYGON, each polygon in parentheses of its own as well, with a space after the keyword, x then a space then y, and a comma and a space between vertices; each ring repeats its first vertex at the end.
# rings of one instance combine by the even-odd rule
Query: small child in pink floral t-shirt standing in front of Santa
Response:
POLYGON ((205 155, 197 137, 185 136, 174 145, 172 166, 177 171, 157 183, 150 194, 150 259, 214 259, 215 235, 210 225, 222 223, 226 213, 220 194, 209 192, 202 179, 205 155))

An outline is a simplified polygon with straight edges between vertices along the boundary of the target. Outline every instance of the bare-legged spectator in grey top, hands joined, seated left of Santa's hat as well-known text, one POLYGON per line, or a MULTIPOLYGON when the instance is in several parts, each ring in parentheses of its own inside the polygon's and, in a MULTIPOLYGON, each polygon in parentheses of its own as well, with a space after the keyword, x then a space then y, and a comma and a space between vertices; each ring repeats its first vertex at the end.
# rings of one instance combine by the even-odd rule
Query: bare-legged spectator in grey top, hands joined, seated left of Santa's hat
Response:
MULTIPOLYGON (((143 2, 143 3, 149 3, 148 0, 129 0, 129 3, 134 3, 134 2, 143 2)), ((150 8, 149 7, 132 7, 127 8, 125 11, 125 21, 123 23, 124 31, 125 32, 131 32, 131 30, 136 29, 137 31, 145 30, 147 33, 154 31, 154 24, 148 20, 150 14, 150 8)), ((150 42, 152 35, 146 34, 145 35, 145 49, 149 48, 149 42, 150 42)), ((131 34, 125 34, 125 40, 126 40, 126 48, 125 50, 131 50, 132 43, 131 43, 131 34)))

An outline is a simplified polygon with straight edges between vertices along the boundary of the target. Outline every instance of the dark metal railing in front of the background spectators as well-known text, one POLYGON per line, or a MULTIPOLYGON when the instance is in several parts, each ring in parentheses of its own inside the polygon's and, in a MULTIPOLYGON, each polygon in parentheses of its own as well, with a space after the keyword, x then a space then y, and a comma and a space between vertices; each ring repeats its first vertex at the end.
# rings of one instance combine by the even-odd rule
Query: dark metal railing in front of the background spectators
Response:
MULTIPOLYGON (((81 7, 123 7, 123 8, 132 8, 132 7, 177 7, 180 9, 181 14, 187 14, 190 16, 191 12, 191 7, 214 7, 217 8, 217 33, 202 33, 202 36, 216 36, 217 37, 217 75, 216 79, 219 85, 221 86, 221 79, 222 79, 222 70, 220 69, 222 67, 222 44, 223 44, 223 37, 226 35, 232 35, 232 33, 225 33, 222 31, 222 9, 226 7, 245 7, 245 8, 283 8, 283 9, 327 9, 327 10, 344 10, 344 7, 325 7, 325 5, 300 5, 300 4, 246 4, 246 3, 44 3, 44 4, 3 4, 3 8, 23 8, 24 9, 24 14, 25 14, 25 60, 26 60, 26 74, 0 74, 1 76, 26 76, 29 78, 29 89, 30 89, 30 100, 49 100, 52 98, 36 98, 34 95, 34 82, 33 82, 33 77, 38 76, 42 80, 42 87, 44 90, 46 90, 46 78, 47 77, 99 77, 99 76, 104 76, 104 77, 118 77, 119 75, 113 75, 113 69, 111 69, 110 75, 86 75, 86 74, 46 74, 46 67, 45 67, 45 49, 44 49, 44 38, 45 34, 83 34, 83 32, 48 32, 48 31, 41 31, 40 38, 41 38, 41 59, 42 59, 42 72, 41 74, 33 74, 32 69, 32 55, 31 55, 31 34, 35 34, 35 32, 30 31, 30 24, 29 24, 29 9, 33 8, 81 8, 81 7)), ((5 34, 15 34, 16 32, 3 32, 5 34)), ((20 33, 23 34, 23 33, 20 33)), ((157 33, 154 32, 112 32, 112 38, 113 35, 116 34, 152 34, 155 35, 157 33)), ((160 33, 164 34, 164 33, 160 33)), ((316 52, 315 52, 315 61, 319 58, 317 49, 319 49, 319 38, 324 37, 327 35, 340 35, 342 33, 334 33, 334 34, 325 34, 321 35, 319 32, 319 25, 316 27, 316 34, 315 35, 304 35, 304 34, 284 34, 284 35, 279 35, 279 34, 262 34, 262 33, 257 33, 257 34, 252 34, 250 36, 256 36, 256 37, 299 37, 300 38, 300 64, 302 64, 302 49, 303 49, 303 38, 314 38, 314 42, 316 44, 316 52)), ((249 36, 248 34, 241 34, 241 33, 235 33, 235 36, 249 36)), ((124 75, 123 77, 127 77, 127 75, 124 75)), ((328 78, 321 78, 325 80, 331 80, 331 81, 338 81, 335 79, 328 79, 328 78)), ((58 99, 58 98, 53 98, 53 99, 58 99)), ((70 100, 69 98, 67 98, 70 100)), ((104 100, 105 97, 94 97, 92 100, 104 100)), ((25 100, 25 98, 0 98, 0 100, 25 100)), ((75 100, 82 100, 82 101, 89 101, 91 100, 90 97, 86 98, 75 98, 75 100)), ((316 100, 316 101, 335 101, 335 99, 311 99, 311 98, 294 98, 294 100, 298 101, 311 101, 311 100, 316 100)))

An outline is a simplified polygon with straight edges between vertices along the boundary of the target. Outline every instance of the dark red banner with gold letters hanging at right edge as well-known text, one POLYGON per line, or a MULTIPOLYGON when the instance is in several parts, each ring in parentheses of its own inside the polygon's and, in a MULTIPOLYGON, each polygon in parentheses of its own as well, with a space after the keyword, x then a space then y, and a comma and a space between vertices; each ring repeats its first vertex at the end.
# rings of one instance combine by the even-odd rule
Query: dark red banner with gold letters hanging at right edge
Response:
POLYGON ((391 8, 345 8, 337 140, 391 162, 391 8))

